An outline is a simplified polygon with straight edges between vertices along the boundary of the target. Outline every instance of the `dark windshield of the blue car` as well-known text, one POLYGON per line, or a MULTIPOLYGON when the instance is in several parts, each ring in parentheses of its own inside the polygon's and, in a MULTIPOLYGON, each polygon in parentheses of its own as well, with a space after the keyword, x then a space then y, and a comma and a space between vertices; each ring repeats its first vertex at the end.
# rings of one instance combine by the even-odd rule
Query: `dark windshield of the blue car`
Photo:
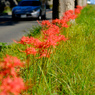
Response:
POLYGON ((40 1, 21 1, 19 6, 40 6, 40 1))

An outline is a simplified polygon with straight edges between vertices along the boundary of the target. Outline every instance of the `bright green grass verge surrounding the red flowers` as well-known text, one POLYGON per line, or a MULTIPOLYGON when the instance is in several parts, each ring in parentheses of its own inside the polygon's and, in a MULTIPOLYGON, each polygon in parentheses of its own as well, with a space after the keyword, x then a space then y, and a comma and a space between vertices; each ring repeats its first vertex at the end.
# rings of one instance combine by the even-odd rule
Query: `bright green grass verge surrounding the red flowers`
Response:
MULTIPOLYGON (((30 56, 29 72, 22 69, 24 80, 30 80, 27 95, 95 95, 94 20, 95 5, 88 5, 76 19, 76 24, 63 31, 69 40, 52 49, 50 58, 30 56)), ((40 27, 34 30, 38 34, 40 27)), ((4 47, 0 56, 9 54, 25 60, 25 54, 19 51, 24 48, 12 44, 4 47)))

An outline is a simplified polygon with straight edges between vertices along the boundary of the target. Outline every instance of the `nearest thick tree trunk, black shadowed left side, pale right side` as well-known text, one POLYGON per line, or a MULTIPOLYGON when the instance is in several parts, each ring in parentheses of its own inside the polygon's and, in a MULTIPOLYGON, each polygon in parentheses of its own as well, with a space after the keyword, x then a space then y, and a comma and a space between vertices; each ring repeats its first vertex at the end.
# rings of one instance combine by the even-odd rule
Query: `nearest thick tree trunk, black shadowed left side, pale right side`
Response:
POLYGON ((61 18, 67 10, 74 10, 74 0, 53 0, 53 19, 61 18))

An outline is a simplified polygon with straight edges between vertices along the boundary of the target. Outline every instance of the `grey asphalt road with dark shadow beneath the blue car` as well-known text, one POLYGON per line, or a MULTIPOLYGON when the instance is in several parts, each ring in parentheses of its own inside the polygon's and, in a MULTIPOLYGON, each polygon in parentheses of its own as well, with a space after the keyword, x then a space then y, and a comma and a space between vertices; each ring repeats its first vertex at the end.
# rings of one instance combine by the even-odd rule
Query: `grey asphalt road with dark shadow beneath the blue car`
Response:
MULTIPOLYGON (((46 20, 52 19, 51 12, 51 10, 47 10, 46 20)), ((41 22, 41 20, 39 21, 41 22)), ((12 21, 11 15, 2 15, 0 16, 0 42, 7 44, 13 43, 13 40, 19 40, 36 25, 39 25, 36 19, 20 19, 18 21, 12 21)))

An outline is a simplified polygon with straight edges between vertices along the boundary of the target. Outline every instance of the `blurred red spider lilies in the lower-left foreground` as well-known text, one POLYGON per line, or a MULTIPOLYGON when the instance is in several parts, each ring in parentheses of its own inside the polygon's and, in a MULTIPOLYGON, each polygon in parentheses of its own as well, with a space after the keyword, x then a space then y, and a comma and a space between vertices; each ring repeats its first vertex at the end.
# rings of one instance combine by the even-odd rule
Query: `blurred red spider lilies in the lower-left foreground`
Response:
POLYGON ((17 74, 19 67, 23 65, 17 57, 9 55, 0 62, 0 95, 19 95, 25 89, 23 80, 17 74))

